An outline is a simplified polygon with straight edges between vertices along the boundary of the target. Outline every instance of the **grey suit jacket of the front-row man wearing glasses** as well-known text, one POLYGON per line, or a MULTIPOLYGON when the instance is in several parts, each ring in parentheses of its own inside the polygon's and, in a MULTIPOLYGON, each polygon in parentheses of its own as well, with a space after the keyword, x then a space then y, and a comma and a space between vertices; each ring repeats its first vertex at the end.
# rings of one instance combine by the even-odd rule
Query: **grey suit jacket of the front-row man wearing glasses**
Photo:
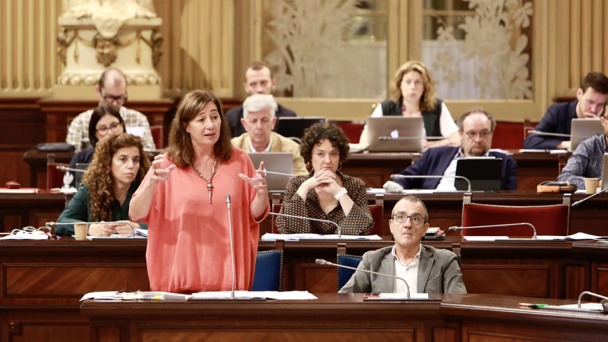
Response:
MULTIPOLYGON (((366 252, 358 268, 395 275, 395 260, 390 253, 392 248, 388 246, 366 252)), ((456 254, 431 246, 422 245, 421 248, 416 284, 418 293, 466 293, 456 254)), ((394 284, 392 277, 355 271, 339 293, 392 293, 394 284)))

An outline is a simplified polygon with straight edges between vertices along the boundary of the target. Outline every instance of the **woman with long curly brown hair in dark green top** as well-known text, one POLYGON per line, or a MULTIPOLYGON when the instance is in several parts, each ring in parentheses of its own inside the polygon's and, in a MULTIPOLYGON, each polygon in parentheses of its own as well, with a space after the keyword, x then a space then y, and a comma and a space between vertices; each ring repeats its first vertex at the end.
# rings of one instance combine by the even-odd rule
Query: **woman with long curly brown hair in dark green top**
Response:
MULTIPOLYGON (((109 135, 95 146, 91 165, 83 176, 82 186, 63 210, 57 222, 130 222, 129 203, 150 160, 143 152, 142 139, 131 134, 109 135)), ((135 228, 148 229, 143 223, 131 222, 135 228)), ((55 228, 57 234, 74 234, 74 226, 55 228)), ((127 223, 89 225, 88 235, 110 236, 132 233, 127 223)))

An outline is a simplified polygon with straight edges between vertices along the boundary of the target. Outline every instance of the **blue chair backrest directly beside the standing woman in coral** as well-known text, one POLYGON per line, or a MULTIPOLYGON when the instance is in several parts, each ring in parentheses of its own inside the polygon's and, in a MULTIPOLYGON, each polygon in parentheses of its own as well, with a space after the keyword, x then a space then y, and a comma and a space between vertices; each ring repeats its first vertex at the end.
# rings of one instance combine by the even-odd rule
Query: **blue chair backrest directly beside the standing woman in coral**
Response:
POLYGON ((281 291, 283 288, 283 240, 275 242, 272 251, 258 252, 252 291, 281 291))

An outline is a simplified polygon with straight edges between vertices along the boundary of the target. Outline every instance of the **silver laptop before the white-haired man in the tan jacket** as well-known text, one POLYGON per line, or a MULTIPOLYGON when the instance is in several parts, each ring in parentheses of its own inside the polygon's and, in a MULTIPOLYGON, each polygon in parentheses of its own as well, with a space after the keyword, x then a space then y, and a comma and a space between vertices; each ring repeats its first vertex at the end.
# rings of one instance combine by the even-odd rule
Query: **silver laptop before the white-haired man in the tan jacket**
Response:
MULTIPOLYGON (((294 173, 294 155, 292 153, 249 153, 249 158, 254 163, 255 169, 260 167, 260 162, 264 161, 264 168, 267 171, 294 173)), ((287 183, 291 180, 291 176, 283 175, 266 175, 266 183, 269 191, 285 191, 287 183)))

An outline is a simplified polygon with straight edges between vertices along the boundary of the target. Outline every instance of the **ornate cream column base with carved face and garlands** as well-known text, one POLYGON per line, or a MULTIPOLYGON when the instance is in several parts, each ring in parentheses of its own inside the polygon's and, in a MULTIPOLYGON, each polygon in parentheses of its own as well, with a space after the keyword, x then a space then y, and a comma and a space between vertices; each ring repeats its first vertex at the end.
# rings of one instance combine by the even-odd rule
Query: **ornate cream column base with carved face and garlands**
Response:
POLYGON ((154 69, 162 55, 162 19, 151 5, 89 1, 67 8, 58 23, 63 30, 57 52, 65 68, 54 87, 55 99, 95 99, 92 86, 109 67, 125 73, 129 99, 162 96, 161 77, 154 69))

